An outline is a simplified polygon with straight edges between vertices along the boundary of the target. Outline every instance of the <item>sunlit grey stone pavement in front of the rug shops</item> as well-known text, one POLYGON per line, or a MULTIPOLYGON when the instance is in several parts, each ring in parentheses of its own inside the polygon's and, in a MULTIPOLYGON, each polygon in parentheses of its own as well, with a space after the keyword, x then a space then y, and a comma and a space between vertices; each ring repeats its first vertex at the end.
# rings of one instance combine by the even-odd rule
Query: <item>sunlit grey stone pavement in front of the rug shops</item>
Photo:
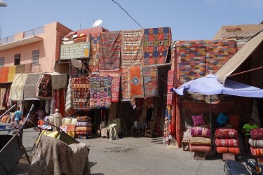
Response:
MULTIPOLYGON (((23 144, 28 153, 37 137, 38 132, 24 130, 23 144)), ((224 162, 220 156, 194 160, 194 154, 189 151, 164 146, 162 137, 123 137, 116 141, 92 137, 77 140, 90 148, 92 174, 224 174, 224 162)), ((28 162, 23 157, 11 174, 25 174, 28 169, 28 162)))

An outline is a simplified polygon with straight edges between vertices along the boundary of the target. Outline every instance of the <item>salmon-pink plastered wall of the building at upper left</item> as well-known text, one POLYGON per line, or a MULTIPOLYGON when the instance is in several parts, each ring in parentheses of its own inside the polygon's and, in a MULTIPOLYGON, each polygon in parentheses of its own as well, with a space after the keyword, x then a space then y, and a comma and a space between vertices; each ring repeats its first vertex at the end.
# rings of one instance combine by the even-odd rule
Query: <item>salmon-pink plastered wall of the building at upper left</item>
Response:
MULTIPOLYGON (((60 57, 60 38, 68 34, 71 29, 61 25, 59 22, 52 22, 44 26, 43 34, 38 34, 43 38, 42 41, 36 41, 26 45, 0 51, 0 57, 5 57, 4 66, 13 66, 14 57, 20 54, 20 64, 32 63, 32 51, 39 50, 39 64, 32 66, 32 72, 52 72, 55 61, 60 57)), ((24 32, 15 34, 15 41, 24 38, 24 32)), ((1 46, 1 45, 0 45, 1 46)))

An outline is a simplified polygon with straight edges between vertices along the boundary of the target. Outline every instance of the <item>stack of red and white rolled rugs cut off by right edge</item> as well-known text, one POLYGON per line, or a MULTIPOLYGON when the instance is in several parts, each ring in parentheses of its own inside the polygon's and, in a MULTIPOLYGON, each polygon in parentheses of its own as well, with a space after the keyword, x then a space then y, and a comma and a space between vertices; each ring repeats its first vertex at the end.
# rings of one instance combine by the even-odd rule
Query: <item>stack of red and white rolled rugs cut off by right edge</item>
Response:
POLYGON ((251 154, 257 158, 259 164, 263 164, 263 128, 251 130, 250 136, 248 143, 251 154))

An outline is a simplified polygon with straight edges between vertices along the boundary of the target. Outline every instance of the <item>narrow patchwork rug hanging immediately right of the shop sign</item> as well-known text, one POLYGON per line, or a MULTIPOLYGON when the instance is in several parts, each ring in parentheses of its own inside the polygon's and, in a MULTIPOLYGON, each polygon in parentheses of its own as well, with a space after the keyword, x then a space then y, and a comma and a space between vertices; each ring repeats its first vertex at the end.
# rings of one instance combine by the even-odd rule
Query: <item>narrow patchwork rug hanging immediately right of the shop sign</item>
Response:
POLYGON ((90 59, 88 62, 91 72, 99 71, 99 60, 100 60, 100 34, 91 34, 90 59))

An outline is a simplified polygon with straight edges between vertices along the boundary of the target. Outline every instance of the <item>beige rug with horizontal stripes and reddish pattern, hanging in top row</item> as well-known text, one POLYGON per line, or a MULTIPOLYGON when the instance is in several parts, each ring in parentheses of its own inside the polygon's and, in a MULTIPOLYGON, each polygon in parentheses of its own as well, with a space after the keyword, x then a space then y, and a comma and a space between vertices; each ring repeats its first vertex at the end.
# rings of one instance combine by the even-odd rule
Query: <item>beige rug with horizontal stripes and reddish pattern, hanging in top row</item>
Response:
POLYGON ((121 66, 143 66, 143 32, 143 29, 122 31, 121 66))

